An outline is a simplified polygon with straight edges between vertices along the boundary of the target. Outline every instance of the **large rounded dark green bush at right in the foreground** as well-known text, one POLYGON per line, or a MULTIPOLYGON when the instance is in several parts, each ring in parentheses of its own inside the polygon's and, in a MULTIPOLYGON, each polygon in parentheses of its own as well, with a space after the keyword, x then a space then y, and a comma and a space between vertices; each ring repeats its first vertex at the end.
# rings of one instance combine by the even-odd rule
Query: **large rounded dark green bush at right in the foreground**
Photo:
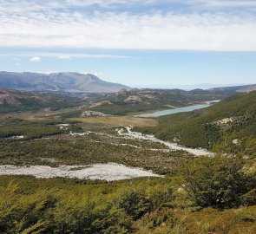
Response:
POLYGON ((225 156, 200 157, 181 163, 184 190, 195 205, 201 207, 238 207, 246 200, 253 203, 256 181, 242 172, 243 161, 225 156), (247 194, 247 196, 246 196, 247 194))

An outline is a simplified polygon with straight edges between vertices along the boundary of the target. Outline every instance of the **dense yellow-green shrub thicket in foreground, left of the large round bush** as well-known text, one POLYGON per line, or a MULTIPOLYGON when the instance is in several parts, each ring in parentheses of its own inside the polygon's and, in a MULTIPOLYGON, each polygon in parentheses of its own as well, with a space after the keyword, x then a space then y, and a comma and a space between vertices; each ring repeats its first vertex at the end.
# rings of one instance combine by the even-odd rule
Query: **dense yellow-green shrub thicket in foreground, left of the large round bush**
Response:
POLYGON ((136 219, 172 199, 165 179, 15 178, 0 180, 0 233, 132 233, 136 219))

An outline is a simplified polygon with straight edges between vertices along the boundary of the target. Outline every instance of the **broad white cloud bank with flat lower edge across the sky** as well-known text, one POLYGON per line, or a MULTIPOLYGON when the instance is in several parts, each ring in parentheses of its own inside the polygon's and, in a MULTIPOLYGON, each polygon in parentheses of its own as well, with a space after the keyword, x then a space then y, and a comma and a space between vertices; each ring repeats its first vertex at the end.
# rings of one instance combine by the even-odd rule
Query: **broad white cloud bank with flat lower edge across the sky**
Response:
MULTIPOLYGON (((156 0, 142 0, 156 3, 156 0)), ((175 0, 161 0, 173 3, 175 0)), ((187 4, 253 6, 255 1, 186 0, 187 4)), ((227 13, 140 14, 95 12, 70 5, 128 3, 128 0, 69 0, 65 4, 0 0, 1 47, 77 49, 199 49, 256 51, 256 16, 227 13), (4 4, 2 4, 4 3, 4 4), (2 6, 1 6, 2 4, 2 6), (7 8, 8 6, 8 8, 7 8), (12 6, 12 7, 10 7, 12 6), (56 10, 62 9, 65 10, 56 10)), ((141 3, 133 0, 130 3, 141 3)), ((56 55, 64 56, 64 55, 56 55)), ((67 55, 70 56, 70 55, 67 55)), ((82 55, 77 55, 79 57, 82 55)), ((87 55, 84 55, 86 57, 87 55)), ((73 55, 70 57, 74 57, 73 55)))

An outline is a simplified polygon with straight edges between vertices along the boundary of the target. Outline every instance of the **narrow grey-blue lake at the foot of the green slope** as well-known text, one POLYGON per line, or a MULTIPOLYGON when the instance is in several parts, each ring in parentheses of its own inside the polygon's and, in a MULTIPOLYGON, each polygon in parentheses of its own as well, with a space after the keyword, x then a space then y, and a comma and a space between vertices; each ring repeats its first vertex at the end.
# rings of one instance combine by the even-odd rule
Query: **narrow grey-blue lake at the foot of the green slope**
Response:
POLYGON ((159 117, 159 116, 167 115, 167 114, 176 114, 176 113, 181 113, 181 112, 194 111, 194 110, 198 110, 201 108, 209 107, 213 103, 216 103, 219 101, 220 100, 207 101, 207 103, 205 103, 205 104, 196 104, 196 105, 189 106, 189 107, 180 107, 180 108, 174 108, 174 109, 161 110, 161 111, 156 111, 154 113, 148 113, 148 114, 138 114, 138 115, 135 115, 135 117, 144 117, 144 118, 159 117))

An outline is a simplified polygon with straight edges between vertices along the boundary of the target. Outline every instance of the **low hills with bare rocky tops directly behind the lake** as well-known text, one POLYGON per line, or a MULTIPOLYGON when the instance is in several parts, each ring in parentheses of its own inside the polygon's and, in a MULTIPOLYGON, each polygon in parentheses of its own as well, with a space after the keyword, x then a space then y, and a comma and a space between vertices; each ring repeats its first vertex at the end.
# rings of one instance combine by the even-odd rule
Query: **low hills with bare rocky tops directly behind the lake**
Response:
POLYGON ((89 110, 104 114, 135 114, 138 112, 153 111, 186 107, 204 101, 220 100, 226 97, 223 91, 207 91, 194 89, 121 89, 115 94, 105 95, 100 101, 88 106, 89 110))

